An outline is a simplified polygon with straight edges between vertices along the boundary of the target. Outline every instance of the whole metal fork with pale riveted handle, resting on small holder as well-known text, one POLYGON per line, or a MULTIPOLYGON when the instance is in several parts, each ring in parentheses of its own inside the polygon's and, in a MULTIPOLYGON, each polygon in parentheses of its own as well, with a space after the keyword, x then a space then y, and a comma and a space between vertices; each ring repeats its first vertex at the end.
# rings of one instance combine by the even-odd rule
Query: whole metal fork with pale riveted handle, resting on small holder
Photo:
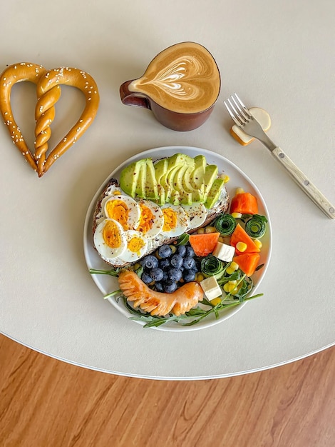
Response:
POLYGON ((319 209, 326 214, 331 219, 335 219, 335 208, 331 203, 326 199, 326 197, 319 191, 319 189, 314 186, 314 184, 307 179, 305 174, 300 171, 298 166, 294 164, 294 162, 284 154, 284 151, 279 148, 274 142, 269 139, 267 134, 265 134, 262 126, 259 122, 254 119, 254 116, 249 112, 246 106, 242 103, 241 99, 234 93, 230 98, 227 98, 227 102, 225 102, 225 106, 230 116, 232 117, 234 123, 242 129, 249 136, 253 136, 257 140, 261 141, 264 146, 269 149, 271 154, 274 156, 277 161, 279 161, 282 166, 287 170, 292 179, 300 186, 300 188, 309 196, 309 199, 314 202, 319 209))

